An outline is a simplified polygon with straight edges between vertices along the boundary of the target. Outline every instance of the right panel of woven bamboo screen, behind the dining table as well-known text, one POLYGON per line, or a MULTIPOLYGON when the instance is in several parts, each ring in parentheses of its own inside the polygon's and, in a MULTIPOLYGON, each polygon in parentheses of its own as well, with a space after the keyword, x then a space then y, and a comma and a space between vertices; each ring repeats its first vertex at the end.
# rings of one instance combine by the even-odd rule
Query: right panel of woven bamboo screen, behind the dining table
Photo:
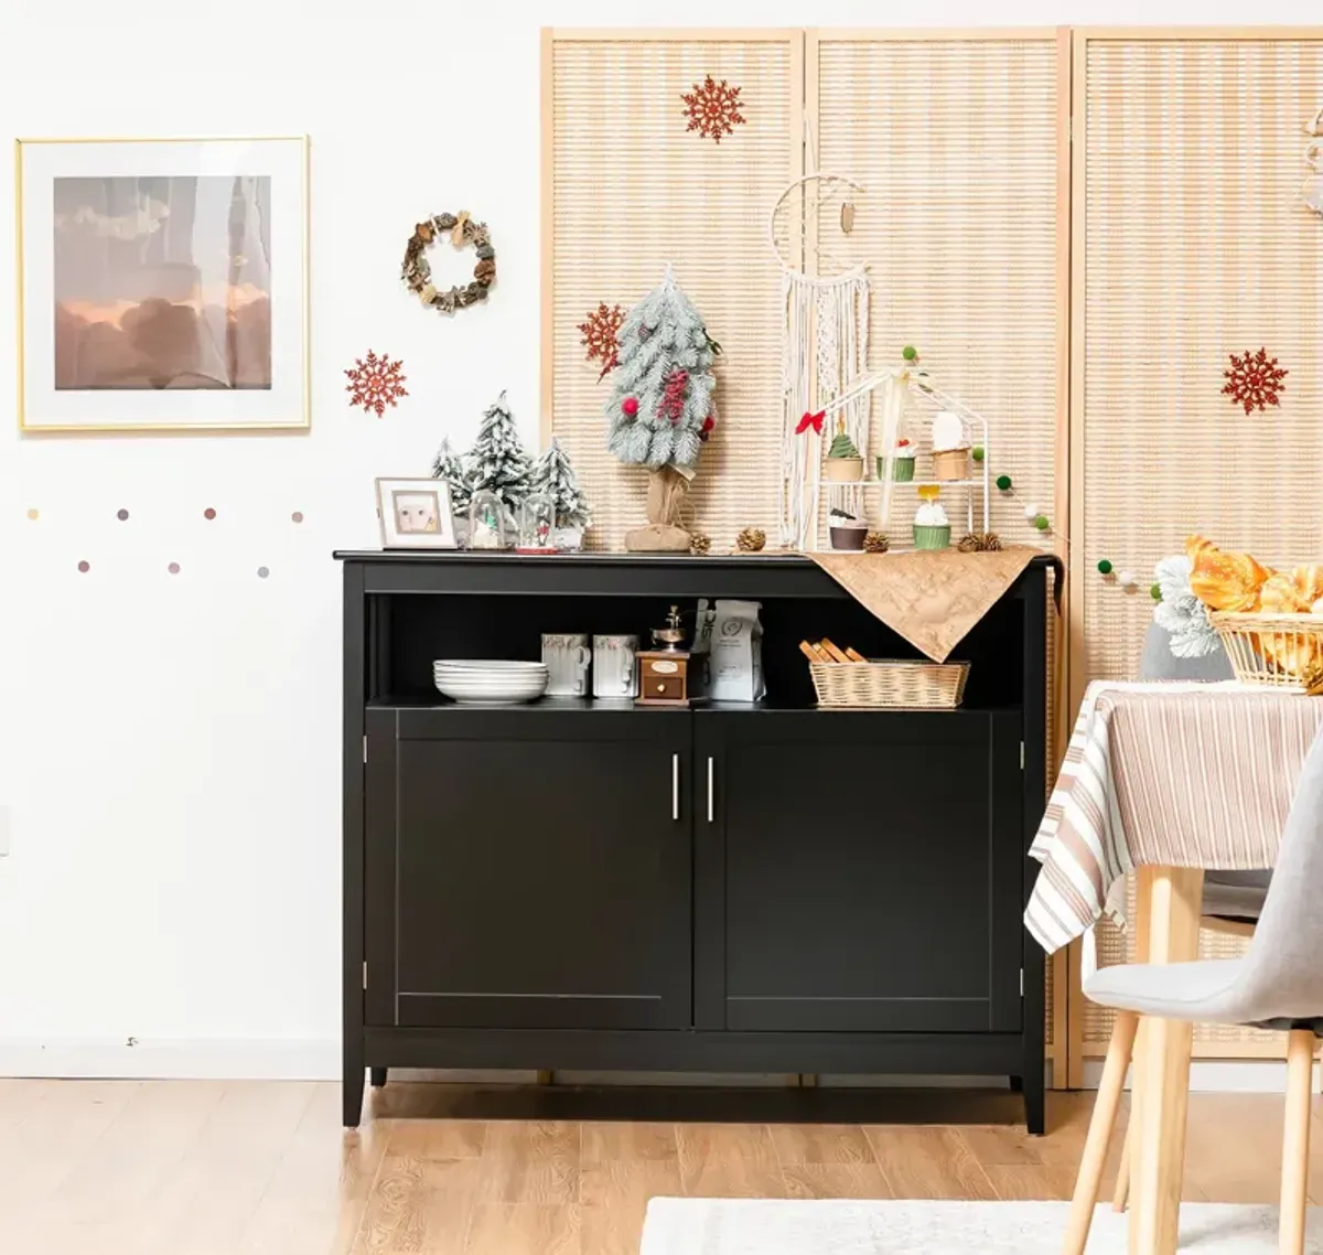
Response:
MULTIPOLYGON (((1320 36, 1074 32, 1072 710, 1091 676, 1134 674, 1148 622, 1147 579, 1126 596, 1099 557, 1147 573, 1192 527, 1270 564, 1323 552, 1323 220, 1299 200, 1320 36), (1290 373, 1282 406, 1246 417, 1222 371, 1259 347, 1290 373)), ((1125 954, 1102 929, 1099 960, 1125 954)), ((1074 1083, 1110 1033, 1077 970, 1074 1083)), ((1279 1058, 1282 1038, 1200 1026, 1195 1054, 1279 1058)))

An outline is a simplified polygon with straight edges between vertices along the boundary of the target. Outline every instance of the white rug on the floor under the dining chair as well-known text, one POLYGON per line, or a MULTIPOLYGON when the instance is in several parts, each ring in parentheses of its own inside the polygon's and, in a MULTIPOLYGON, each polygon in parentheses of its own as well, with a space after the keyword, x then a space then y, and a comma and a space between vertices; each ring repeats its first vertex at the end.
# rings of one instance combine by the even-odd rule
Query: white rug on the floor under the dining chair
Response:
MULTIPOLYGON (((1064 1202, 855 1202, 851 1199, 654 1198, 640 1255, 1060 1255, 1064 1202)), ((1274 1255, 1277 1209, 1185 1203, 1180 1250, 1274 1255)), ((1323 1221, 1310 1211, 1310 1255, 1323 1221)), ((1126 1217, 1099 1206, 1089 1255, 1126 1255, 1126 1217)))

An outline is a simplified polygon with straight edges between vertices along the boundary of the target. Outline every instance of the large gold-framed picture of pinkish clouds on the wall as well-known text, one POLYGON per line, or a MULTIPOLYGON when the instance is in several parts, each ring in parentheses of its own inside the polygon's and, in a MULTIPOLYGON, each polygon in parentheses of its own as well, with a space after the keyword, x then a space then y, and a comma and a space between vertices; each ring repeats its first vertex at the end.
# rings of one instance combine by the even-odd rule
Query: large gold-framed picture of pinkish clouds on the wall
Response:
POLYGON ((22 432, 308 425, 308 142, 20 139, 22 432))

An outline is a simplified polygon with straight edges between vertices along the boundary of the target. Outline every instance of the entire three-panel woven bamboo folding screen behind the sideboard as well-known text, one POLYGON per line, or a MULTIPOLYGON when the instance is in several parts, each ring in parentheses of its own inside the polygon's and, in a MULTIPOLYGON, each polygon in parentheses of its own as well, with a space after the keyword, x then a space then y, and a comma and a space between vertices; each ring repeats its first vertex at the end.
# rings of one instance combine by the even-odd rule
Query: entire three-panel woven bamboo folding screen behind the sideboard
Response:
MULTIPOLYGON (((1073 714, 1089 679, 1134 674, 1151 608, 1147 579, 1126 594, 1098 559, 1146 576, 1191 527, 1270 563, 1323 551, 1323 221, 1298 203, 1320 102, 1316 29, 548 32, 544 438, 574 457, 599 543, 618 544, 642 518, 642 477, 605 451, 606 384, 577 324, 598 302, 627 308, 673 261, 726 348, 697 526, 714 548, 747 524, 773 534, 781 319, 765 218, 800 173, 856 179, 873 364, 918 344, 992 417, 999 469, 1070 536, 1058 691, 1073 714), (709 73, 741 86, 750 119, 720 160, 675 124, 709 73), (1291 373, 1281 410, 1246 417, 1221 372, 1261 346, 1291 373)), ((1021 503, 995 503, 995 526, 1023 539, 1021 503)), ((1234 945, 1204 939, 1209 954, 1234 945)), ((1105 931, 1101 951, 1115 961, 1125 939, 1105 931)), ((1107 1018, 1076 964, 1053 964, 1049 1006, 1054 1078, 1078 1084, 1107 1018)), ((1281 1045, 1200 1029, 1195 1050, 1281 1045)))

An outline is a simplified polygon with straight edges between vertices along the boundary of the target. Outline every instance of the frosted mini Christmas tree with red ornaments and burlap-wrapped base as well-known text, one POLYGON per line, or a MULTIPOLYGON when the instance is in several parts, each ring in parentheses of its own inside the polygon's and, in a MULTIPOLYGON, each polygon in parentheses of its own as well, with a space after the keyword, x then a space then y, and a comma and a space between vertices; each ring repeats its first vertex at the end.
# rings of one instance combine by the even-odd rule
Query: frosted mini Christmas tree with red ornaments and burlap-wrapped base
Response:
POLYGON ((634 551, 687 552, 684 492, 716 426, 712 363, 720 347, 667 266, 662 283, 624 319, 619 364, 605 413, 607 443, 628 466, 648 469, 648 526, 626 534, 634 551))

